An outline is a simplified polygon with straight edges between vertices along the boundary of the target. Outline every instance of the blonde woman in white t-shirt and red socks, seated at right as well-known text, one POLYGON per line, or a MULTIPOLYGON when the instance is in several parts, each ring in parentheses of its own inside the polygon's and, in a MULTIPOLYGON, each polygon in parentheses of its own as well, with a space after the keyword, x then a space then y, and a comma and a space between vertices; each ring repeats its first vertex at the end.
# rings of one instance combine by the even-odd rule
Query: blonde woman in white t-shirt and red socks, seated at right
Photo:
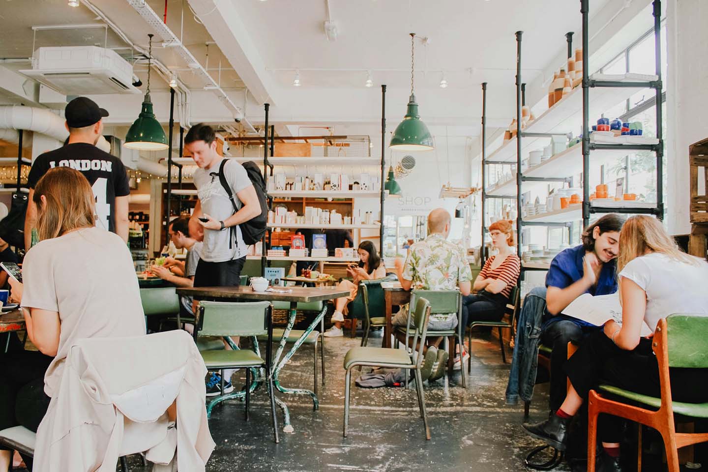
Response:
MULTIPOLYGON (((566 447, 569 420, 600 379, 637 393, 661 396, 651 340, 640 335, 643 323, 653 332, 658 321, 671 313, 708 316, 708 263, 680 251, 655 218, 639 215, 624 223, 617 272, 622 326, 608 321, 603 330, 590 335, 564 366, 571 386, 561 408, 547 421, 524 424, 532 436, 561 451, 566 447)), ((708 401, 708 376, 702 369, 670 371, 674 401, 708 401)), ((614 416, 600 416, 603 456, 599 470, 621 470, 618 421, 614 416)))

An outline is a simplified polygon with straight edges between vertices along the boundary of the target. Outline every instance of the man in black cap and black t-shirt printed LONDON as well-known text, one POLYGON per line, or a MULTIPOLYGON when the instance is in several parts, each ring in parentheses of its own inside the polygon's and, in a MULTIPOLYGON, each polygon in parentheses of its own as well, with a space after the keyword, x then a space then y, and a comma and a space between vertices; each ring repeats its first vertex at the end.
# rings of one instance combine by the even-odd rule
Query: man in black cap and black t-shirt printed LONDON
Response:
POLYGON ((25 216, 25 248, 30 247, 32 229, 37 224, 37 207, 32 200, 35 185, 50 168, 64 166, 76 169, 89 180, 96 198, 96 226, 113 231, 127 242, 130 185, 125 166, 117 157, 96 147, 105 116, 108 112, 86 97, 74 98, 67 104, 68 144, 40 154, 27 178, 30 195, 25 216))

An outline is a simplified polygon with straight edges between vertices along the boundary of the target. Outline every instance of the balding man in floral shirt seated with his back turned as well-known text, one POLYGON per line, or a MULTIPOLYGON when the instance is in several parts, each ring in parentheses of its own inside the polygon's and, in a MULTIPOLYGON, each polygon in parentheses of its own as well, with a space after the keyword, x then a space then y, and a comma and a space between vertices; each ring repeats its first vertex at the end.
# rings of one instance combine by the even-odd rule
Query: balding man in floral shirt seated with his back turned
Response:
MULTIPOLYGON (((462 295, 469 295, 472 270, 462 247, 447 241, 449 234, 450 213, 444 208, 434 209, 428 214, 428 237, 411 245, 405 264, 400 258, 395 261, 401 287, 405 290, 456 290, 459 287, 462 295)), ((402 307, 392 324, 406 326, 407 320, 408 309, 402 307)), ((457 323, 457 313, 435 313, 430 315, 428 329, 451 330, 457 327, 457 323)), ((445 374, 447 352, 437 348, 442 338, 429 339, 428 342, 422 374, 423 380, 434 381, 445 374)))

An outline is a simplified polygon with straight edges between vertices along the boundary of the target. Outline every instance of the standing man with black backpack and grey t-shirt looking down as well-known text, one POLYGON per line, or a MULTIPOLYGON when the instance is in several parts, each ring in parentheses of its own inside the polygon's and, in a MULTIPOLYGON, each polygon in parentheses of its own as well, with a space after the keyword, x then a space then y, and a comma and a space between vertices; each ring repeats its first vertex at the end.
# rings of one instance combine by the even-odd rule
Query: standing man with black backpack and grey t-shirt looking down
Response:
MULTIPOLYGON (((250 240, 254 237, 253 224, 244 224, 253 220, 258 222, 259 228, 263 226, 265 229, 263 199, 253 187, 244 166, 235 159, 224 159, 217 154, 212 127, 202 123, 194 125, 184 143, 199 167, 193 176, 199 200, 190 218, 189 231, 195 235, 201 231, 204 233, 194 286, 238 287, 247 244, 253 243, 250 240), (246 241, 241 226, 246 228, 246 241)), ((256 233, 258 236, 258 231, 256 233)))

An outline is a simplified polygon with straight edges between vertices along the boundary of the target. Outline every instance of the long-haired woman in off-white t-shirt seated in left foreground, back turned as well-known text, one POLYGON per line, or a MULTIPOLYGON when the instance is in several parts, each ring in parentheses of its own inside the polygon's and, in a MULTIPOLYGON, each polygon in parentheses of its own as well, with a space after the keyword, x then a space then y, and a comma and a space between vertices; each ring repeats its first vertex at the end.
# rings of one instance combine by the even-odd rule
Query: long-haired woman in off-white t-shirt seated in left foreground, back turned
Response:
MULTIPOLYGON (((84 175, 50 169, 33 200, 40 242, 25 255, 23 283, 11 281, 11 296, 21 304, 39 352, 0 355, 0 429, 38 429, 76 340, 145 334, 130 251, 120 236, 95 226, 95 200, 84 175)), ((0 451, 0 471, 10 460, 11 451, 0 451)))

